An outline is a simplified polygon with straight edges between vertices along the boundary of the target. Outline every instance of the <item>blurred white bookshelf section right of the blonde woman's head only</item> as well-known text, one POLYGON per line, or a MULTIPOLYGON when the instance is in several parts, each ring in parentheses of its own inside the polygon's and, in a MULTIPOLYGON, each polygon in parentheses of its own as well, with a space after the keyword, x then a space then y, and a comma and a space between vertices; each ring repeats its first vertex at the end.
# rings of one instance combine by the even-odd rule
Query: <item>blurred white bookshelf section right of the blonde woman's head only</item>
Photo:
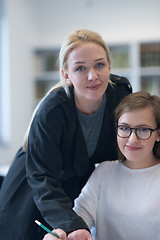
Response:
POLYGON ((160 41, 111 45, 112 73, 127 77, 133 91, 160 96, 160 41))

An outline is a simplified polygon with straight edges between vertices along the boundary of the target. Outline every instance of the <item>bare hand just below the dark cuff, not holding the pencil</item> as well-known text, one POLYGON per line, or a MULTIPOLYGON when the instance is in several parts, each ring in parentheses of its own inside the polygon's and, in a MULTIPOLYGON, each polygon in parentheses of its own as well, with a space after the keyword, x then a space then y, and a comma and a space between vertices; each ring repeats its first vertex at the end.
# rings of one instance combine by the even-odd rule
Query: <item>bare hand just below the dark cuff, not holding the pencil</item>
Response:
POLYGON ((71 232, 68 235, 67 239, 68 240, 94 240, 91 234, 86 229, 79 229, 74 232, 71 232))

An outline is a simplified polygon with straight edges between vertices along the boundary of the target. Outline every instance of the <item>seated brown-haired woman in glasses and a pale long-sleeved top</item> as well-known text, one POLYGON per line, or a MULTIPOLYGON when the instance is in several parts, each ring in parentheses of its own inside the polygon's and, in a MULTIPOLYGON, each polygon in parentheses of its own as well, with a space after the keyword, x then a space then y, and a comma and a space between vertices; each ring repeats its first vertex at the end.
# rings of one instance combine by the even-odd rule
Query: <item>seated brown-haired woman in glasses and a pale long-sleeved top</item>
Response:
MULTIPOLYGON (((120 160, 95 169, 74 210, 90 229, 95 227, 94 240, 159 240, 160 97, 144 92, 128 95, 115 111, 115 122, 120 160)), ((64 236, 60 230, 56 233, 64 236)), ((81 229, 68 239, 93 238, 81 229)))

